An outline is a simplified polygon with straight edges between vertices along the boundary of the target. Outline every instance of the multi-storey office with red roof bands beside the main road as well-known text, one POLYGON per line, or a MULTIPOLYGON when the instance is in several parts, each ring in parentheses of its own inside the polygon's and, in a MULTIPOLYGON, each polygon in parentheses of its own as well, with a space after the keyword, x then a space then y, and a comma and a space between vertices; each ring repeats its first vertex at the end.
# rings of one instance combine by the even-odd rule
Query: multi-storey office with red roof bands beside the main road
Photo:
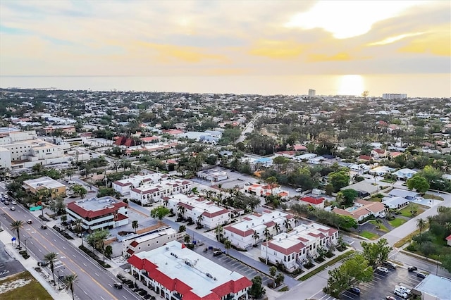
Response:
POLYGON ((66 213, 69 221, 81 219, 83 229, 89 232, 128 224, 128 204, 116 202, 109 196, 70 202, 66 213))

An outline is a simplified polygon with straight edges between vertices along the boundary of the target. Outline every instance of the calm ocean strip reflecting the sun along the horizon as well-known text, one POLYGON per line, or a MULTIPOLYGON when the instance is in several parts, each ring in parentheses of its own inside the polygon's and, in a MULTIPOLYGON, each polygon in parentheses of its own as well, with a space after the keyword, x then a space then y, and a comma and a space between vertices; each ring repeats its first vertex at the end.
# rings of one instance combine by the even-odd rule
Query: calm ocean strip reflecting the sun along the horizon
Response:
POLYGON ((92 91, 450 97, 450 74, 288 76, 0 76, 0 87, 92 91))

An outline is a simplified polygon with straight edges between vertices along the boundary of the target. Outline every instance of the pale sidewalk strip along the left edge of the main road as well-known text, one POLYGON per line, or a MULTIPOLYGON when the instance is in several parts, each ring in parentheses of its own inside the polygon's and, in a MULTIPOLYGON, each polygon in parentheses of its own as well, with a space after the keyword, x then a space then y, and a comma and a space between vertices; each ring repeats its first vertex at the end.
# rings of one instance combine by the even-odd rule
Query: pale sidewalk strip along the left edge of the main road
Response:
POLYGON ((42 270, 42 273, 38 273, 35 270, 35 268, 37 267, 37 260, 33 256, 25 259, 18 253, 18 251, 11 245, 12 237, 13 236, 10 235, 6 230, 0 232, 0 240, 5 244, 7 253, 10 256, 16 258, 16 260, 19 261, 23 265, 23 267, 27 269, 27 271, 29 271, 33 277, 36 278, 36 280, 42 285, 42 287, 47 290, 47 292, 53 299, 71 300, 72 296, 70 296, 70 294, 68 294, 64 289, 58 291, 56 289, 56 286, 51 284, 51 274, 47 273, 47 270, 45 268, 40 268, 42 270))

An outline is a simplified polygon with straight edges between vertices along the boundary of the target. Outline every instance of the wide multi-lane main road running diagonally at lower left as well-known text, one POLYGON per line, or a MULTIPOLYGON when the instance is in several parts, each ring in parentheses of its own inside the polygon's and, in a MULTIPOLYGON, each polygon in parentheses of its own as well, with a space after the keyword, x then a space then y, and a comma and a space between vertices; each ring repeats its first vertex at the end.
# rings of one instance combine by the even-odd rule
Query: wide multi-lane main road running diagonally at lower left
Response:
POLYGON ((114 275, 101 268, 97 262, 92 261, 92 258, 89 258, 52 228, 42 230, 40 228, 43 224, 42 221, 35 218, 22 206, 17 205, 16 211, 10 211, 8 206, 1 204, 0 220, 4 229, 8 230, 13 236, 16 236, 16 232, 11 232, 8 225, 14 220, 24 221, 23 229, 20 230, 20 243, 25 249, 25 239, 27 240, 27 251, 37 261, 41 261, 44 255, 49 252, 58 254, 58 260, 55 262, 55 276, 57 271, 59 271, 60 276, 70 273, 77 274, 78 282, 74 294, 78 299, 141 299, 127 288, 114 289, 113 284, 117 282, 114 275), (25 220, 28 219, 31 219, 33 223, 25 223, 25 220))

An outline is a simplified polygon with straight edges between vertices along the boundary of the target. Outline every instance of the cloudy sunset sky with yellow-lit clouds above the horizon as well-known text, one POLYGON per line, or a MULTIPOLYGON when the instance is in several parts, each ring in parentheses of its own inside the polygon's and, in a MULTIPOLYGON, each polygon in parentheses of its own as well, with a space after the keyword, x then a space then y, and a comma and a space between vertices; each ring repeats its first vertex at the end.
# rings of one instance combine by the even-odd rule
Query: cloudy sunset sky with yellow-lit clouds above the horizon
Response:
POLYGON ((446 74, 451 1, 0 1, 0 75, 446 74))

